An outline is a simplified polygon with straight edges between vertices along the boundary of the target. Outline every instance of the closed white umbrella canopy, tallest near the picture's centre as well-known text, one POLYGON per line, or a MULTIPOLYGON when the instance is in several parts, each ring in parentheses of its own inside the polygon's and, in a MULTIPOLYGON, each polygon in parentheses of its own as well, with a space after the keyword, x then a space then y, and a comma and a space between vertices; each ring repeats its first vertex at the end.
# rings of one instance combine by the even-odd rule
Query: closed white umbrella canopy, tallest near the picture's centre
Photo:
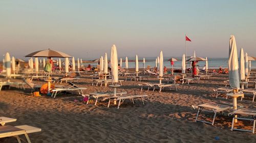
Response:
POLYGON ((118 82, 118 58, 117 58, 117 51, 116 45, 113 45, 111 48, 111 72, 112 72, 112 82, 118 82))

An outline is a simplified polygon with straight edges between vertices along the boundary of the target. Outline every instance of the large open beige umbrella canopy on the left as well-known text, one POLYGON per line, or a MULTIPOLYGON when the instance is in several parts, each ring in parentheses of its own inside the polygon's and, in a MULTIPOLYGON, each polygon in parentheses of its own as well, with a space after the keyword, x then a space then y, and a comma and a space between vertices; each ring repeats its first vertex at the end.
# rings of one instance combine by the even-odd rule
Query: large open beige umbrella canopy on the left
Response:
POLYGON ((56 51, 56 50, 51 50, 51 49, 47 49, 47 50, 39 50, 39 51, 35 51, 32 52, 28 55, 26 55, 26 57, 47 57, 47 58, 51 58, 51 57, 56 57, 56 58, 71 58, 71 56, 69 54, 60 52, 60 51, 56 51))

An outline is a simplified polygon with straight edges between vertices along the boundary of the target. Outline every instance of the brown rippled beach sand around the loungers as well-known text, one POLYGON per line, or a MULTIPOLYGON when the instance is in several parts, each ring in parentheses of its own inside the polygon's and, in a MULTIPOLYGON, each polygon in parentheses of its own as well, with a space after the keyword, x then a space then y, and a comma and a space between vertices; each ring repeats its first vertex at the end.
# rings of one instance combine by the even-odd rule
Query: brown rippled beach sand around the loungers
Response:
MULTIPOLYGON (((29 134, 32 142, 255 142, 255 134, 231 131, 232 119, 226 116, 219 116, 214 126, 195 122, 197 110, 191 105, 209 101, 232 102, 232 99, 214 98, 213 90, 224 87, 223 80, 226 79, 228 75, 217 74, 210 80, 200 80, 200 83, 183 84, 178 87, 178 92, 164 90, 161 93, 140 91, 138 83, 142 82, 125 81, 117 91, 129 95, 147 94, 148 97, 144 106, 127 101, 120 109, 113 104, 107 108, 106 101, 99 101, 97 106, 94 102, 89 105, 74 102, 82 99, 77 94, 58 95, 53 99, 46 95, 33 97, 28 87, 25 91, 3 89, 0 92, 0 116, 17 119, 8 125, 26 124, 41 128, 41 132, 29 134)), ((150 78, 150 81, 157 82, 157 79, 150 78)), ((110 87, 92 86, 89 74, 82 74, 78 85, 88 88, 84 93, 113 91, 110 87)), ((252 102, 238 101, 238 104, 256 108, 256 103, 252 102)), ((207 116, 205 120, 210 120, 209 113, 203 115, 207 116)), ((252 126, 248 122, 239 122, 239 125, 247 129, 252 126)), ((0 142, 16 142, 16 139, 0 138, 0 142)))

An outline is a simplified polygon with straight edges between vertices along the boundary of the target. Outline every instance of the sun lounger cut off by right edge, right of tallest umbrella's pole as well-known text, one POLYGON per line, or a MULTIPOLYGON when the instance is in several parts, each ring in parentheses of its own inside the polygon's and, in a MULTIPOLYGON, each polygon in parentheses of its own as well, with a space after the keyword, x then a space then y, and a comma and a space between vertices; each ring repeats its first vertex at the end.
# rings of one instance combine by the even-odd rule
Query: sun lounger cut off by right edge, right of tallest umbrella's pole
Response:
POLYGON ((246 131, 246 132, 252 132, 254 133, 255 131, 255 123, 256 123, 256 110, 254 109, 239 109, 236 111, 233 111, 231 113, 229 113, 229 115, 233 116, 233 120, 232 120, 232 126, 231 126, 231 131, 232 130, 238 130, 238 131, 246 131), (237 117, 236 117, 237 116, 237 117), (248 118, 241 118, 238 116, 245 116, 248 118), (249 118, 252 117, 252 118, 249 118), (252 130, 245 130, 245 129, 238 129, 238 128, 234 128, 234 120, 246 120, 246 121, 251 121, 253 122, 252 124, 252 130))

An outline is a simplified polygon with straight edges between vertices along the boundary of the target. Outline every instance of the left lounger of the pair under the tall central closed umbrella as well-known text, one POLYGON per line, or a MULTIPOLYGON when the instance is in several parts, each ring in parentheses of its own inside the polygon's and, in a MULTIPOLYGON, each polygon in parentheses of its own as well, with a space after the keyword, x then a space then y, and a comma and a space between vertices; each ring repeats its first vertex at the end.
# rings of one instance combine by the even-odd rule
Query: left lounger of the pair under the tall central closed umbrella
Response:
MULTIPOLYGON (((116 95, 123 95, 123 94, 127 94, 126 92, 117 92, 116 95)), ((98 101, 98 98, 104 98, 105 99, 108 99, 108 97, 110 96, 114 96, 114 93, 113 92, 95 92, 95 93, 90 93, 90 94, 87 94, 87 95, 84 95, 84 96, 87 96, 88 97, 88 100, 87 100, 87 103, 89 103, 89 100, 90 100, 90 97, 93 97, 95 98, 95 103, 94 105, 97 104, 97 101, 98 101)))

